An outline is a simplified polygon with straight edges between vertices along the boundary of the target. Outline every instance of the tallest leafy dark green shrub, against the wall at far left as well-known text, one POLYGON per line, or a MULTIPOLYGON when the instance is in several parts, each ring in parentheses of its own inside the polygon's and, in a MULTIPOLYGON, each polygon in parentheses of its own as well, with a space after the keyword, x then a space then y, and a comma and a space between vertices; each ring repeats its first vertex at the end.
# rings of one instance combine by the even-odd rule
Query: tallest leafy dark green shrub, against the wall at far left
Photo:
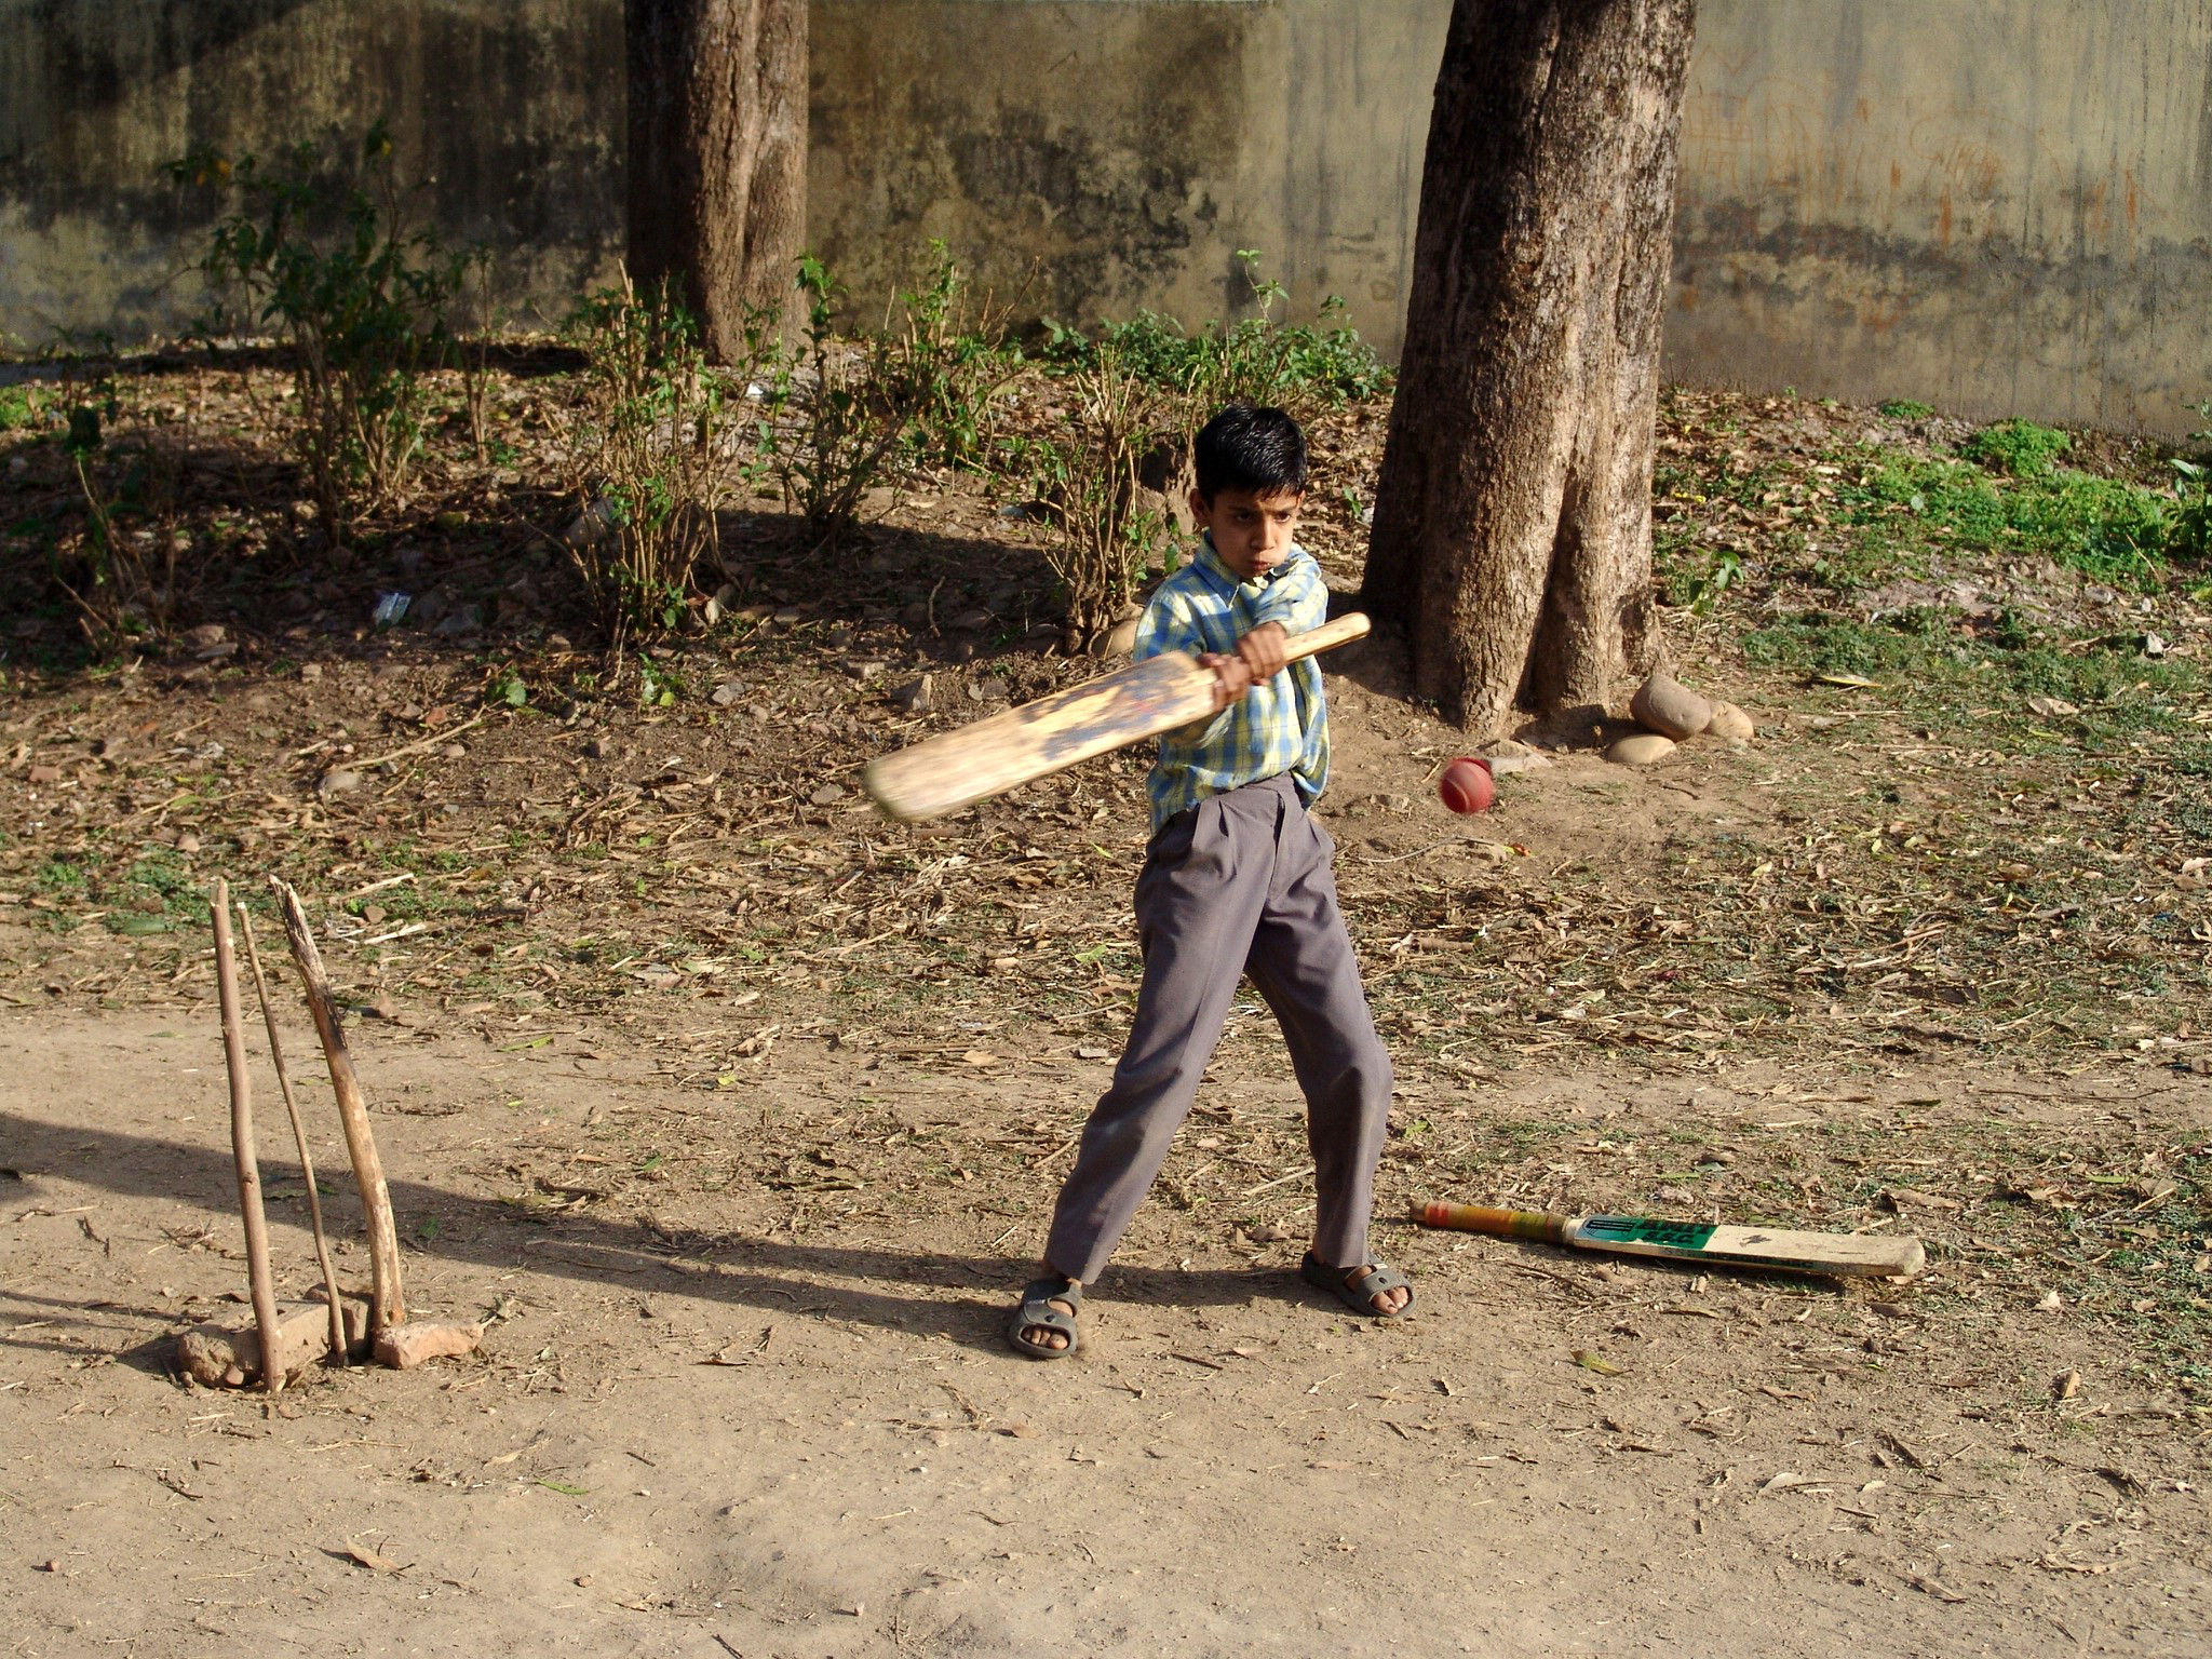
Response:
POLYGON ((343 166, 294 144, 270 168, 201 150, 168 170, 241 204, 217 223, 201 270, 219 303, 292 347, 292 449, 343 542, 363 511, 405 500, 422 449, 422 369, 447 361, 445 307, 465 259, 407 228, 383 122, 343 166))

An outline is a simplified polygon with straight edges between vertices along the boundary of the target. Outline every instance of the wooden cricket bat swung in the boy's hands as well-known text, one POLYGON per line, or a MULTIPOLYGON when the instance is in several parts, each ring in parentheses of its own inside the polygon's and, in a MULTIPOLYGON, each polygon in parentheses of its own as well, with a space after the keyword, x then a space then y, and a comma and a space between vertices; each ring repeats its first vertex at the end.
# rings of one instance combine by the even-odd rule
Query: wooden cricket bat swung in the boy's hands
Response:
MULTIPOLYGON (((1285 659, 1312 657, 1367 633, 1352 613, 1292 635, 1285 659)), ((936 818, 1095 754, 1190 726, 1214 712, 1214 670, 1183 650, 1009 708, 869 763, 865 785, 891 818, 936 818)))

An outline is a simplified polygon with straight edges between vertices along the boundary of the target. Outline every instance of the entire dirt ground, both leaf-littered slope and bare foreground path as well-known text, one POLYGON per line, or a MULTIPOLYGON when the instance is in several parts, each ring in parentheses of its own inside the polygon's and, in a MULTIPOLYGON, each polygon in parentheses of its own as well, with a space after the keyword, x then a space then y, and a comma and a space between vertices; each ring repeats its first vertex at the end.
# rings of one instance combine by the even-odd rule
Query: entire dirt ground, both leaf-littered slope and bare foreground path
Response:
MULTIPOLYGON (((1924 657, 1790 659, 1849 445, 1896 434, 1672 396, 1666 535, 1743 562, 1670 637, 1756 741, 1626 772, 1586 712, 1462 821, 1464 734, 1387 644, 1327 661, 1416 1318, 1298 1285, 1298 1099, 1243 1000, 1084 1349, 1037 1365, 1000 1329, 1126 1029, 1141 759, 918 827, 856 792, 1097 668, 1053 655, 1033 531, 922 478, 823 560, 754 502, 719 630, 613 664, 522 484, 557 376, 502 387, 500 489, 336 566, 268 449, 221 449, 230 385, 124 387, 184 434, 164 533, 221 549, 197 633, 69 661, 22 597, 0 650, 9 1655, 2203 1650, 2201 593, 1882 568, 1820 588, 1816 644, 1924 657), (398 588, 436 602, 369 626, 398 588), (175 1374, 179 1329, 246 1316, 217 874, 263 918, 263 876, 303 891, 409 1307, 487 1321, 480 1354, 274 1402, 175 1374), (1416 1197, 1911 1232, 1931 1267, 1694 1274, 1416 1232, 1416 1197)), ((1318 434, 1338 588, 1383 418, 1318 434)), ((51 440, 0 489, 11 553, 73 511, 51 440)))

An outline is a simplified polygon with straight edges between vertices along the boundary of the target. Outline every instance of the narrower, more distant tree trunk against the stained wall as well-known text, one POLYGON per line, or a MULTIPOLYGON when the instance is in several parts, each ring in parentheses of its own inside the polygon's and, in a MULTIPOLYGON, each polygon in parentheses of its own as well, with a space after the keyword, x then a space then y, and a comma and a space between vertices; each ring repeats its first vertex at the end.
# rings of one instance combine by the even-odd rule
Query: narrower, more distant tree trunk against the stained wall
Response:
POLYGON ((679 283, 717 363, 781 321, 807 234, 807 0, 626 0, 630 276, 679 283))

